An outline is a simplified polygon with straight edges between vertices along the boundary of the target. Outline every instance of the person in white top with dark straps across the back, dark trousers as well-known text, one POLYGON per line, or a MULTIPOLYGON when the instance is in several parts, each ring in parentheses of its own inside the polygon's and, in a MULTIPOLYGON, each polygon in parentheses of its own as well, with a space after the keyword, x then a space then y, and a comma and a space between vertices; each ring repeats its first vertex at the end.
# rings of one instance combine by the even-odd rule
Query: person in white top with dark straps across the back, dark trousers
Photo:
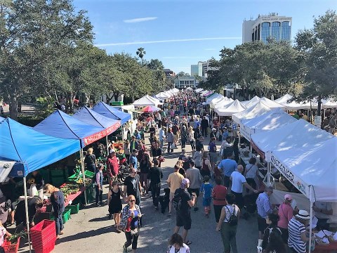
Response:
POLYGON ((232 193, 226 195, 225 205, 221 209, 220 219, 216 226, 216 231, 221 230, 221 239, 223 240, 223 252, 237 253, 237 221, 240 216, 240 209, 234 205, 235 196, 232 193), (235 221, 236 219, 236 221, 235 221))

